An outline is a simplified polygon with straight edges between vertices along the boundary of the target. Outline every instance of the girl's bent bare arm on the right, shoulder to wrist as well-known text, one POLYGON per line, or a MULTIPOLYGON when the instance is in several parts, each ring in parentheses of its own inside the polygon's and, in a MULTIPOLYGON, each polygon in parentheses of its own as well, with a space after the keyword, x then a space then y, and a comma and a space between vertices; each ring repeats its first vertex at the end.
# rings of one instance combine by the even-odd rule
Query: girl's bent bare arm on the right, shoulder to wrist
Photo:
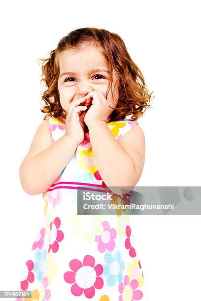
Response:
POLYGON ((100 176, 107 186, 132 186, 139 181, 145 159, 145 140, 136 124, 119 141, 105 121, 89 126, 90 141, 100 176))

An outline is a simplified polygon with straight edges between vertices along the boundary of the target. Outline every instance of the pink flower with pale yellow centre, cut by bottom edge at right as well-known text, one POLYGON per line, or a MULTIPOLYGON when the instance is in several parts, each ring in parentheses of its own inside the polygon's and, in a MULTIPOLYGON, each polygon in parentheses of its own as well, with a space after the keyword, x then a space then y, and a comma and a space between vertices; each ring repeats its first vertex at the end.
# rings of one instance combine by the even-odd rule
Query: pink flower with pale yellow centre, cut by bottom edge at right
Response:
POLYGON ((129 283, 129 276, 126 275, 124 277, 124 284, 121 282, 119 283, 119 292, 122 294, 119 296, 119 301, 134 301, 134 300, 141 300, 143 297, 143 293, 139 290, 135 290, 138 287, 137 280, 131 280, 129 283))

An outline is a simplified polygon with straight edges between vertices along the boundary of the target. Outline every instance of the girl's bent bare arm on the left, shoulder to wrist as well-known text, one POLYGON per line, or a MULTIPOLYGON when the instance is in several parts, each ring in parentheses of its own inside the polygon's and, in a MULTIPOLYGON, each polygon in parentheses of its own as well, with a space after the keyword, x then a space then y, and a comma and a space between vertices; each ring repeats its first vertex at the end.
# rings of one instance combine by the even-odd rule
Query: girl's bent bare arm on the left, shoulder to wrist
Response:
POLYGON ((67 135, 53 143, 49 120, 43 120, 20 165, 19 177, 24 191, 31 195, 46 191, 64 170, 77 146, 67 135))

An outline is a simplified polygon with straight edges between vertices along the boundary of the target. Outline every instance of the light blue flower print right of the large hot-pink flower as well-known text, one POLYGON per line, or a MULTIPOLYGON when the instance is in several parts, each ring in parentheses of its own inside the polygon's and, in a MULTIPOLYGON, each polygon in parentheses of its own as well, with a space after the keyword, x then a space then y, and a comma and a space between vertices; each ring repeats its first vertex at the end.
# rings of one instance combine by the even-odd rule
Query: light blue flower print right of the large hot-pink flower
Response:
POLYGON ((110 252, 106 252, 104 261, 106 262, 106 265, 103 265, 102 276, 107 276, 107 285, 114 286, 117 279, 120 283, 123 279, 122 271, 125 270, 125 261, 121 260, 121 252, 117 251, 114 255, 110 252))

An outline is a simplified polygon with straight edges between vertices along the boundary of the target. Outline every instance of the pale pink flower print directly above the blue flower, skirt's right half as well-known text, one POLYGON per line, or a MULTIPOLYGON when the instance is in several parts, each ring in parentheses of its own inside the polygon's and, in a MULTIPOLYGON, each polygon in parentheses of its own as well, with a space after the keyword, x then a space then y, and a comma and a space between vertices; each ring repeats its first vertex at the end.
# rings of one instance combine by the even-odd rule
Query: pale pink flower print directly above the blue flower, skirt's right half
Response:
POLYGON ((106 249, 108 251, 113 251, 115 248, 114 239, 117 236, 116 230, 114 228, 110 229, 109 223, 105 220, 102 223, 103 233, 101 235, 95 235, 95 241, 99 241, 98 250, 103 253, 106 249))

